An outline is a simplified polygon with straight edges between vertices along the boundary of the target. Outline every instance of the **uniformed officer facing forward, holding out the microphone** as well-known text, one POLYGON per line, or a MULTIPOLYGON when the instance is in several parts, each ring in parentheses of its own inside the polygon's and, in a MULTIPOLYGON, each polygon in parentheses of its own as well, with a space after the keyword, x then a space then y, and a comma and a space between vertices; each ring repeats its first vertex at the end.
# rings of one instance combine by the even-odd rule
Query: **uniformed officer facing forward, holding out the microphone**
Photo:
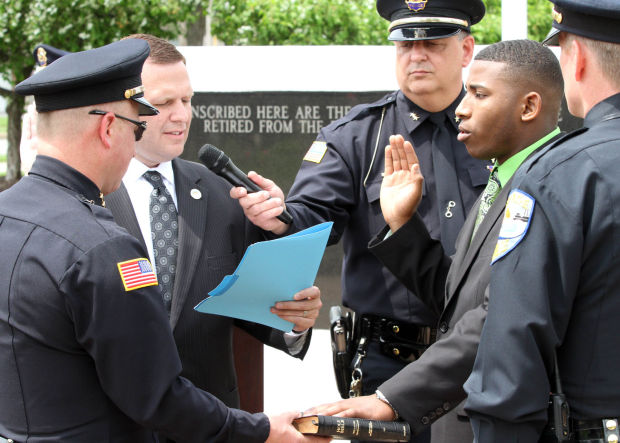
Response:
MULTIPOLYGON (((483 2, 378 0, 377 11, 389 22, 400 90, 356 106, 321 129, 286 199, 292 225, 267 212, 283 199, 270 181, 250 175, 278 198, 247 195, 242 188, 231 191, 250 220, 276 234, 334 222, 329 242, 343 243, 343 304, 356 312, 361 331, 352 346, 366 338, 358 354, 364 356, 351 368, 356 374, 354 395, 374 393, 418 358, 432 342, 441 312, 440 305, 424 305, 368 250, 368 242, 385 225, 379 191, 389 137, 402 134, 416 147, 425 177, 418 213, 448 254, 454 253, 465 215, 486 186, 490 164, 470 157, 456 139, 455 110, 464 96, 462 68, 474 50, 469 31, 484 16, 483 2)), ((351 370, 344 378, 351 380, 351 370)), ((341 392, 348 390, 345 386, 341 392)))

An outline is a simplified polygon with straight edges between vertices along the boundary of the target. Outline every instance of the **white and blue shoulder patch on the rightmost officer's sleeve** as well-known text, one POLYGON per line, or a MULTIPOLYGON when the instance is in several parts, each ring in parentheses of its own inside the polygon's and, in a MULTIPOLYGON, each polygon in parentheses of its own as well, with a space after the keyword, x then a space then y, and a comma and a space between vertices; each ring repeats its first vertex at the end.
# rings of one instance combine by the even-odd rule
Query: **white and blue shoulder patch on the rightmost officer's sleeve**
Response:
POLYGON ((523 240, 530 227, 535 203, 536 200, 531 195, 519 189, 510 193, 491 264, 508 254, 523 240))

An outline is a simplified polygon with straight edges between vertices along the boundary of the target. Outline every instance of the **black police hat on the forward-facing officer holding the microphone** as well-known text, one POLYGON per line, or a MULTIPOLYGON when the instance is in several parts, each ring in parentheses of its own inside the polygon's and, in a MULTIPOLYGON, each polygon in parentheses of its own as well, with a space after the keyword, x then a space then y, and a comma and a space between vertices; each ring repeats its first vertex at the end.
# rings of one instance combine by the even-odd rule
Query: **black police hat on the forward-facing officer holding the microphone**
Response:
POLYGON ((390 21, 388 40, 446 38, 482 20, 482 0, 377 0, 377 11, 390 21))

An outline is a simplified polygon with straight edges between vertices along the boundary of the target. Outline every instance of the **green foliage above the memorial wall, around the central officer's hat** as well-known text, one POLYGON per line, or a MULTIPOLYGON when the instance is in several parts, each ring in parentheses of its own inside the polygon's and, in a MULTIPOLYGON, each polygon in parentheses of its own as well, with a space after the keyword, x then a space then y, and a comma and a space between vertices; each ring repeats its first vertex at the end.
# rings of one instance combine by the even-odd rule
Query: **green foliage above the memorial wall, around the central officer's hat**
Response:
MULTIPOLYGON (((504 0, 510 1, 510 0, 504 0)), ((501 0, 472 28, 476 43, 501 40, 501 0)), ((214 0, 212 33, 227 45, 387 45, 388 23, 375 0, 214 0)), ((551 24, 551 3, 528 0, 528 37, 540 40, 551 24)))

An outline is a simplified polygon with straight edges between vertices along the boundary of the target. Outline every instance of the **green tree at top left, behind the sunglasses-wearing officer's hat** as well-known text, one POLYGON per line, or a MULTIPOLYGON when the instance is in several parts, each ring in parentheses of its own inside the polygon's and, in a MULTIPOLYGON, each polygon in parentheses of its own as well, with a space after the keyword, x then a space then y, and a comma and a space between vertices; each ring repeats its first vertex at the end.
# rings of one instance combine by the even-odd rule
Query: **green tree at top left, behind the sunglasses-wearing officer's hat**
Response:
MULTIPOLYGON (((204 0, 2 0, 0 7, 0 76, 10 89, 0 88, 7 100, 8 182, 20 177, 19 141, 24 97, 14 87, 32 72, 32 50, 47 43, 81 51, 132 33, 164 38, 181 34, 181 24, 197 18, 204 0)), ((207 2, 208 3, 208 2, 207 2)))

